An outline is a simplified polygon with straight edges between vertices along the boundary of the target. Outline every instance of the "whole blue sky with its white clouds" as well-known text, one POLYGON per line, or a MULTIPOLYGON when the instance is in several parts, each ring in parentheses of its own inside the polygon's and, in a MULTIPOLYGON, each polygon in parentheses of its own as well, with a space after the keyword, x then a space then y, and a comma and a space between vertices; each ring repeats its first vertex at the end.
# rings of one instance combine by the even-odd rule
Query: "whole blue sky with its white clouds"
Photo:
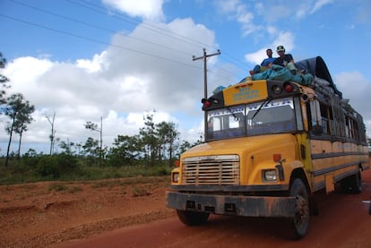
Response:
MULTIPOLYGON (((260 64, 282 45, 295 61, 322 56, 343 98, 371 135, 371 1, 368 0, 0 0, 0 69, 7 95, 22 93, 34 121, 22 153, 48 153, 49 120, 60 141, 99 133, 103 145, 134 135, 143 116, 177 124, 182 141, 203 133, 203 48, 208 95, 260 64)), ((0 115, 0 155, 9 118, 0 115)), ((18 149, 13 136, 11 150, 18 149)), ((58 146, 56 145, 56 151, 58 146)))

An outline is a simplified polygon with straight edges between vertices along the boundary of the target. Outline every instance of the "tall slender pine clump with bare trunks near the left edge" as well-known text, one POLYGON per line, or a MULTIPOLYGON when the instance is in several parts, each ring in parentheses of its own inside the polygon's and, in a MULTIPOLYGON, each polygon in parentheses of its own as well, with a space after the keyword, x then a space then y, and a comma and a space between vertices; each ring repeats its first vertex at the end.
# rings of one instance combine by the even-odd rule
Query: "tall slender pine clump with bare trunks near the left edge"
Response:
POLYGON ((7 98, 6 101, 7 105, 5 107, 5 115, 11 118, 11 122, 5 127, 6 132, 9 133, 9 143, 6 151, 5 166, 8 165, 13 132, 20 133, 20 137, 22 137, 21 133, 27 130, 26 124, 29 124, 32 120, 30 114, 35 110, 33 106, 30 106, 29 101, 24 101, 23 95, 20 93, 13 94, 11 97, 7 98))

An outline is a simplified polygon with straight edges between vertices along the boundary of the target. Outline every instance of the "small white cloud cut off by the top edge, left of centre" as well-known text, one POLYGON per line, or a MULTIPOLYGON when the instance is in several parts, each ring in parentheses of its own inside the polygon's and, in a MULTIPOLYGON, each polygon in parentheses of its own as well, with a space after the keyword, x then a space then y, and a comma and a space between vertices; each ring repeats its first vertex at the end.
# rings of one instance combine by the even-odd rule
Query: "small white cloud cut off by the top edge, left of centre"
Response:
POLYGON ((123 13, 132 17, 142 17, 145 20, 160 21, 164 18, 162 13, 163 0, 103 0, 123 13))

